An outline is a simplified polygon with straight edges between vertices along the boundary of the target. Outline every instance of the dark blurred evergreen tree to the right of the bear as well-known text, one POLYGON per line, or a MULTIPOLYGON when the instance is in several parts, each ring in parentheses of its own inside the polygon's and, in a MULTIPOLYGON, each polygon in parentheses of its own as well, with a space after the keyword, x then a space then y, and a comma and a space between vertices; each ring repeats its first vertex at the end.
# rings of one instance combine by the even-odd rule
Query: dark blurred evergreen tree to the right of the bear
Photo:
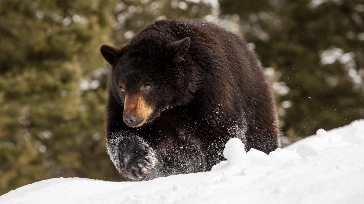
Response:
POLYGON ((281 74, 273 89, 283 90, 278 113, 292 141, 364 117, 363 1, 220 2, 262 65, 281 74))

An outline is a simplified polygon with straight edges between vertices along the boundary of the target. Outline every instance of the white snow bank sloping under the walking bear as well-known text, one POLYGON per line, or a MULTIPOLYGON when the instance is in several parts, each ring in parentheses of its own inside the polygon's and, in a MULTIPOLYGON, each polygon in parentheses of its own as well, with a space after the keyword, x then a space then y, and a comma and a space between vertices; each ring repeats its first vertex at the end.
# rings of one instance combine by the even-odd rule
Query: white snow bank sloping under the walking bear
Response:
POLYGON ((306 137, 269 155, 226 143, 210 172, 143 182, 54 178, 0 203, 364 203, 364 120, 306 137))

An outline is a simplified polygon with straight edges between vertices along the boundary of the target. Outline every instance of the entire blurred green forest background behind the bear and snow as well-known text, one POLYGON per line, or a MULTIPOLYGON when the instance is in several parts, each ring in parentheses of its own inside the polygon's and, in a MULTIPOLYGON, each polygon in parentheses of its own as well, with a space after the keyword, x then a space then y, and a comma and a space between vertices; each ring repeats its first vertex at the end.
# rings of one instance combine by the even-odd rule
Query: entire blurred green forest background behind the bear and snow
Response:
POLYGON ((1 0, 0 195, 55 177, 121 181, 105 148, 108 64, 152 21, 243 37, 276 95, 287 145, 364 118, 363 0, 1 0))

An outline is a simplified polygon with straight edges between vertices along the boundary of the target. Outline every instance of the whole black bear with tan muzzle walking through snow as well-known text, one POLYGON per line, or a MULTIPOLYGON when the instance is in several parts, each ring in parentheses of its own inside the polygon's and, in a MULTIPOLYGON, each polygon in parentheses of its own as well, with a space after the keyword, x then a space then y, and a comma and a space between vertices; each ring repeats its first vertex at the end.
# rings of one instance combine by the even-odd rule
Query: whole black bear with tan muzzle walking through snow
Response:
POLYGON ((124 177, 209 171, 230 138, 280 146, 274 97, 242 39, 198 20, 160 20, 127 45, 101 46, 112 69, 107 149, 124 177))

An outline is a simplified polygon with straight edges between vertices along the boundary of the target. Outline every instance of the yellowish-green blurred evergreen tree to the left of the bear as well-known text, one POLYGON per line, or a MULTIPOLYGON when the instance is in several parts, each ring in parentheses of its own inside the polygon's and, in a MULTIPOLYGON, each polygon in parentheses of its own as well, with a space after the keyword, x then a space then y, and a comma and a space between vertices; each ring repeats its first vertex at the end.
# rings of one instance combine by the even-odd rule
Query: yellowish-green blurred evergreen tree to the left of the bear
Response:
POLYGON ((85 2, 1 2, 0 194, 59 176, 120 179, 103 139, 106 75, 96 69, 115 3, 85 2))

